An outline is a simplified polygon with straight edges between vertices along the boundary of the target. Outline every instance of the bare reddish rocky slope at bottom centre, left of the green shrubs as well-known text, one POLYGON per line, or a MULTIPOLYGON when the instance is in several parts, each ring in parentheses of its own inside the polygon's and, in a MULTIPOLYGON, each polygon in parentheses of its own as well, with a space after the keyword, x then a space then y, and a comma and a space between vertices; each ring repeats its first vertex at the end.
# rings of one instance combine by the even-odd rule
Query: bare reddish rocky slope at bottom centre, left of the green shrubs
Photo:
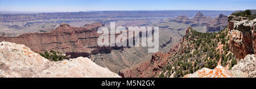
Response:
POLYGON ((178 44, 176 44, 168 53, 155 53, 152 55, 151 60, 144 61, 133 67, 127 68, 122 71, 124 77, 129 78, 152 78, 158 77, 159 72, 162 71, 170 61, 170 55, 174 54, 178 50, 178 44))

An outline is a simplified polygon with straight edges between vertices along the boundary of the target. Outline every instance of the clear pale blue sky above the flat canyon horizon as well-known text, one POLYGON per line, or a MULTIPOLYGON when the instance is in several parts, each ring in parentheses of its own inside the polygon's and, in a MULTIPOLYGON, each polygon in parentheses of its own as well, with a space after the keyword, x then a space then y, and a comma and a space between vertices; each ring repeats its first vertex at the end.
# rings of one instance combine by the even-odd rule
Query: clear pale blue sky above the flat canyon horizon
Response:
POLYGON ((256 0, 0 0, 0 11, 246 10, 256 0))

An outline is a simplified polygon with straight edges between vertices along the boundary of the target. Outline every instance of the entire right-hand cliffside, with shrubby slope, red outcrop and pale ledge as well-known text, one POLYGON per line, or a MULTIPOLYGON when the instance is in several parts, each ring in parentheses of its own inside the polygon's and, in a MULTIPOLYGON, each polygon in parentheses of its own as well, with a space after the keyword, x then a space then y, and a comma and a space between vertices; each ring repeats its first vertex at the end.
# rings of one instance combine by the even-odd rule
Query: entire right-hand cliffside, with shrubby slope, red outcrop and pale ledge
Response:
POLYGON ((232 17, 229 26, 217 33, 201 33, 189 27, 179 50, 151 58, 167 62, 142 63, 126 70, 124 77, 255 77, 255 20, 232 17), (143 67, 145 64, 150 67, 143 67))

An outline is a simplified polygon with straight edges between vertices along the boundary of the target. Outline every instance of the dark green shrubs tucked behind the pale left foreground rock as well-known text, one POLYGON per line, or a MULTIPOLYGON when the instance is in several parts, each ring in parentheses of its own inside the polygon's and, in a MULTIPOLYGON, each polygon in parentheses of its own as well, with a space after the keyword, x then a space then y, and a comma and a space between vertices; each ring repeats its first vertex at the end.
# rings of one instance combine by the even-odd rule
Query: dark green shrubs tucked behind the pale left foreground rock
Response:
POLYGON ((65 58, 65 56, 63 56, 63 53, 55 52, 54 50, 51 50, 49 53, 46 51, 44 53, 39 54, 40 56, 47 58, 50 61, 62 61, 65 58))

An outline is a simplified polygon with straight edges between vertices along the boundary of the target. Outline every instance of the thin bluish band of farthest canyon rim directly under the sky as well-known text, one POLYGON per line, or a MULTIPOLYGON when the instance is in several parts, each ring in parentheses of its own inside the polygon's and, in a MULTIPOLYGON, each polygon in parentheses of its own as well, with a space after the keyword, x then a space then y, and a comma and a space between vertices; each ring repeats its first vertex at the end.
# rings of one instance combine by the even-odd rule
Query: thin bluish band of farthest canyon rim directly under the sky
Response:
MULTIPOLYGON (((192 15, 196 11, 92 11, 92 12, 54 12, 40 14, 0 14, 0 22, 28 22, 49 19, 95 19, 95 18, 147 18, 177 15, 192 15)), ((220 13, 231 14, 232 11, 203 11, 215 16, 220 13)))

